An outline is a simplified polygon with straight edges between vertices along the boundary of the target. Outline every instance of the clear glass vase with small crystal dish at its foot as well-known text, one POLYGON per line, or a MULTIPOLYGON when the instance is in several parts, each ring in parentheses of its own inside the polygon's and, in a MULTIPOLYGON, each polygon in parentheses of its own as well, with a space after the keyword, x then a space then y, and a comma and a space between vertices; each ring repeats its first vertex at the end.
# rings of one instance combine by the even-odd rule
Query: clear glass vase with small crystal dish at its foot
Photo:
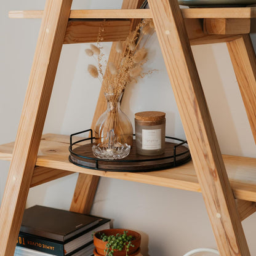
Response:
POLYGON ((107 109, 95 125, 95 145, 92 151, 100 159, 122 159, 128 156, 132 147, 132 124, 121 111, 122 94, 105 93, 105 97, 107 109))

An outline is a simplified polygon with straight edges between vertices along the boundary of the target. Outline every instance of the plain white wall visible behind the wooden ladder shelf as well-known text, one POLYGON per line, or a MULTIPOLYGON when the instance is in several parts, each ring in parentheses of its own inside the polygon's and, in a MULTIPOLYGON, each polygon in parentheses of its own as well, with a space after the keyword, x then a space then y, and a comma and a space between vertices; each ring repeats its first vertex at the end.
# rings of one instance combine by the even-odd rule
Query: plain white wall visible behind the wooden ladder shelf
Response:
MULTIPOLYGON (((73 9, 120 6, 118 0, 76 0, 73 9)), ((44 9, 44 1, 0 1, 1 144, 15 140, 41 23, 7 17, 9 10, 18 9, 44 9)), ((255 44, 255 34, 252 39, 255 44)), ((185 138, 156 37, 150 45, 147 65, 158 72, 129 87, 122 108, 131 120, 137 111, 165 111, 167 135, 185 138)), ((87 74, 90 60, 84 54, 86 47, 63 46, 44 133, 69 135, 90 126, 100 84, 87 74)), ((104 48, 108 52, 110 44, 105 43, 104 48)), ((222 153, 255 158, 255 144, 225 44, 194 46, 193 53, 222 153)), ((9 162, 0 161, 0 200, 8 168, 9 162)), ((76 178, 74 174, 32 188, 27 207, 42 204, 69 209, 76 178)), ((181 256, 196 247, 216 248, 200 193, 100 178, 92 214, 113 218, 116 227, 140 231, 144 256, 181 256)), ((255 215, 243 222, 251 255, 256 255, 255 223, 255 215)))

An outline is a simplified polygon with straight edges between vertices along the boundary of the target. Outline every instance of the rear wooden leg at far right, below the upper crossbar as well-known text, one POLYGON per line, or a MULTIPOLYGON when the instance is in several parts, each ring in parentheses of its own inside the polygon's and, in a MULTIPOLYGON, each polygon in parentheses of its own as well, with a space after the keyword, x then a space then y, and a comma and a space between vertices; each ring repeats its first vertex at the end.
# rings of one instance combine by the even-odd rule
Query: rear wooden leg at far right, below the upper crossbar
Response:
POLYGON ((254 47, 249 34, 228 42, 226 45, 256 142, 256 57, 254 47))

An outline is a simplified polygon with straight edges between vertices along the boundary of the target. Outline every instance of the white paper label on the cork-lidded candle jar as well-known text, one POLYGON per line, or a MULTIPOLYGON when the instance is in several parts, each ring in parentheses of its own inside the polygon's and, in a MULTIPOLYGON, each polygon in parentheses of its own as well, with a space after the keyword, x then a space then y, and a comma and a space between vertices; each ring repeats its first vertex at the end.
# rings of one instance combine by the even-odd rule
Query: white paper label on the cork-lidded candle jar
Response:
POLYGON ((145 130, 142 129, 142 149, 160 150, 161 149, 161 129, 145 130))

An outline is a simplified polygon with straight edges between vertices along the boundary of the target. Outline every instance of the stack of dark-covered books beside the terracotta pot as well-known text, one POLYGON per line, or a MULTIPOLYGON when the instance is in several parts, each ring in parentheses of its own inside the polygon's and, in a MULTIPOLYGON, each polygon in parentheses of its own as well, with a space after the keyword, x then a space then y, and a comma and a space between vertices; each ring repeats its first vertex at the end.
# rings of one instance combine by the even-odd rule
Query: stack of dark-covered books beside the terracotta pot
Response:
POLYGON ((25 209, 14 256, 92 256, 93 234, 110 219, 45 206, 25 209))

